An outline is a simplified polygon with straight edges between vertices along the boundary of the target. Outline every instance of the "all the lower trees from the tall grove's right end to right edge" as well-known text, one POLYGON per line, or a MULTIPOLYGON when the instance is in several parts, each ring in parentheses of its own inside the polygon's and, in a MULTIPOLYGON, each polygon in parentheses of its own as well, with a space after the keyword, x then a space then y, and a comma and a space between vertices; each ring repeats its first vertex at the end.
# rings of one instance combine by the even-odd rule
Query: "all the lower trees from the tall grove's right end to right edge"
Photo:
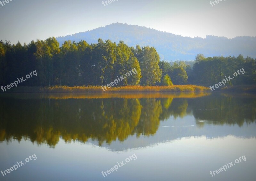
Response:
POLYGON ((208 57, 198 54, 195 61, 160 61, 162 74, 168 74, 172 83, 195 84, 195 85, 215 85, 237 70, 244 69, 245 73, 236 76, 227 85, 243 85, 256 83, 256 60, 250 57, 208 57), (190 65, 193 64, 193 67, 190 65))

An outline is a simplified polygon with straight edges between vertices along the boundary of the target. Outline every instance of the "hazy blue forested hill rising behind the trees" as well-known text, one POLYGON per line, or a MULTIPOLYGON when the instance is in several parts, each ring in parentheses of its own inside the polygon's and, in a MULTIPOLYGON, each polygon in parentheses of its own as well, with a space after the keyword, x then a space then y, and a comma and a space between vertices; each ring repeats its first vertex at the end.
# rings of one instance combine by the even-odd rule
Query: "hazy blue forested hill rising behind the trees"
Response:
POLYGON ((228 39, 225 37, 206 36, 206 38, 182 37, 172 33, 158 30, 114 23, 91 31, 57 37, 60 45, 66 40, 79 42, 85 40, 87 43, 97 43, 98 39, 111 40, 118 43, 123 40, 129 46, 152 46, 156 48, 161 59, 164 60, 194 60, 198 53, 206 57, 213 56, 250 56, 256 58, 256 37, 236 37, 228 39))

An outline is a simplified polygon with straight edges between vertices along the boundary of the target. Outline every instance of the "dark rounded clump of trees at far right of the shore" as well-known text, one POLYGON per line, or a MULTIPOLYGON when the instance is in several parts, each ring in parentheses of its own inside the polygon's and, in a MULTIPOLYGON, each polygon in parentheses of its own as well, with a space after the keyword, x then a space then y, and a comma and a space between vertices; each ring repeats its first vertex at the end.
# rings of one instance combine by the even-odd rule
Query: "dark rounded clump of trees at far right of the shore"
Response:
POLYGON ((195 84, 214 85, 225 76, 233 77, 234 72, 244 69, 244 74, 236 76, 227 85, 243 85, 256 83, 256 62, 255 59, 242 55, 238 57, 208 57, 202 54, 197 55, 190 81, 195 84))

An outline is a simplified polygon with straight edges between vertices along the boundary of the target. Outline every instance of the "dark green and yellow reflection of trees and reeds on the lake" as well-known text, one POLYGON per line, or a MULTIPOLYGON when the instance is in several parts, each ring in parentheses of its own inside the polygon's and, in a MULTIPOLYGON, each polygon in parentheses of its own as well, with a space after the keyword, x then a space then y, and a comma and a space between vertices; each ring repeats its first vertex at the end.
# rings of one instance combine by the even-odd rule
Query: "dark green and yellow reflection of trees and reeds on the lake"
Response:
POLYGON ((208 93, 8 95, 0 98, 0 141, 25 138, 55 147, 62 138, 110 144, 155 135, 161 121, 185 116, 193 116, 196 122, 189 125, 199 128, 242 127, 255 122, 256 98, 208 93))

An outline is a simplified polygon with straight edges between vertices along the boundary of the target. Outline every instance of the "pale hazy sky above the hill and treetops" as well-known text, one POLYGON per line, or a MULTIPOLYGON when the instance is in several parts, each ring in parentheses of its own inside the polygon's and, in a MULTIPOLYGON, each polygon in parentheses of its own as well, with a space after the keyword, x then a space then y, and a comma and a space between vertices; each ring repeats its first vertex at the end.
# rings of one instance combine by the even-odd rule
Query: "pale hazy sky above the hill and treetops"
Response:
POLYGON ((209 0, 118 0, 106 6, 102 0, 12 0, 0 4, 0 40, 23 44, 116 22, 189 37, 256 36, 255 11, 256 0, 222 0, 213 7, 209 0))

